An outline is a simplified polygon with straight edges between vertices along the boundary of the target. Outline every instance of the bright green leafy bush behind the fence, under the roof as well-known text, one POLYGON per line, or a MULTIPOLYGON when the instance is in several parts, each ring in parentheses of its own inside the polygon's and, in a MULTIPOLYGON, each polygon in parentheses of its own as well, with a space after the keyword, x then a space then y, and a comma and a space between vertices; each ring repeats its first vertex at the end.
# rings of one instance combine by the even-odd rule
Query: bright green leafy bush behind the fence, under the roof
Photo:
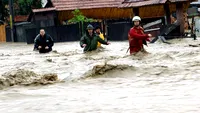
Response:
POLYGON ((74 17, 68 21, 69 23, 82 23, 94 21, 92 18, 87 18, 86 16, 84 16, 83 13, 78 9, 72 11, 72 14, 74 15, 74 17))

